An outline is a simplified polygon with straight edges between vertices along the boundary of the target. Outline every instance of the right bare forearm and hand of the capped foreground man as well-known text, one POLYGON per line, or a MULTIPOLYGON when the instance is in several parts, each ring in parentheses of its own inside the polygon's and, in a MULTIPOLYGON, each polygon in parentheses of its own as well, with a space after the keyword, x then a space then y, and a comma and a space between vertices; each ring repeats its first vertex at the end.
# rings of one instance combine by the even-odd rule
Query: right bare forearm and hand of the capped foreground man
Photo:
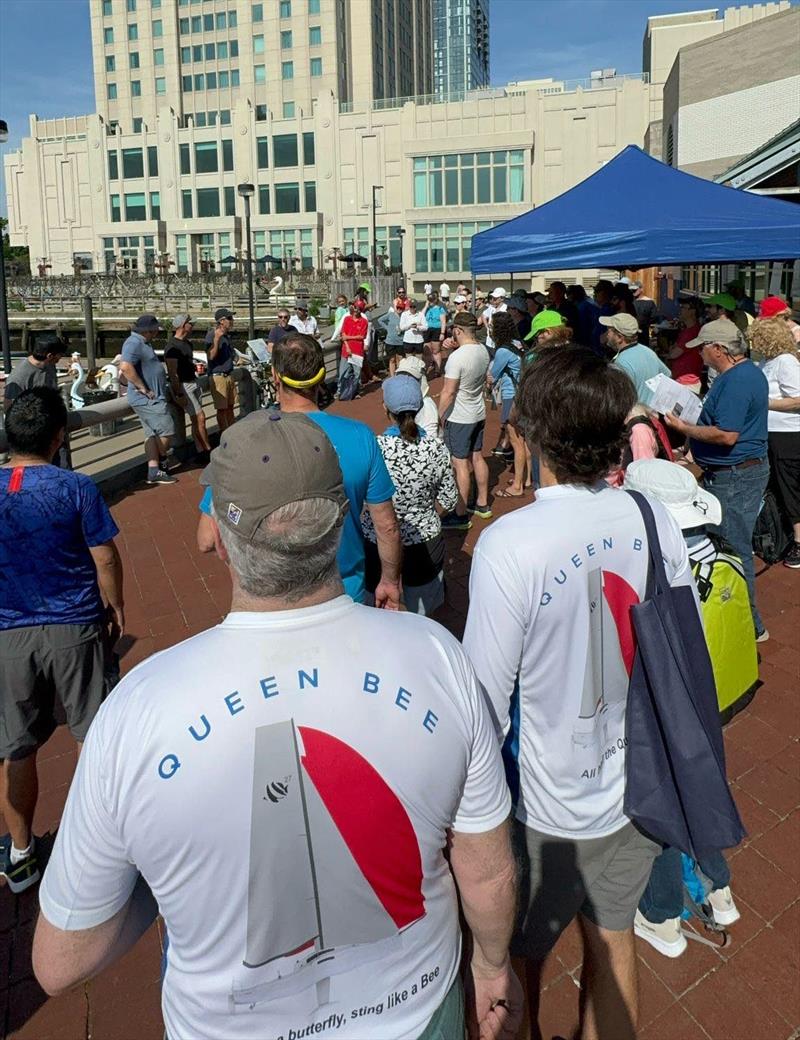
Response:
POLYGON ((522 1021, 523 997, 509 956, 517 908, 509 823, 479 834, 453 831, 449 850, 473 939, 470 1038, 514 1040, 522 1021))

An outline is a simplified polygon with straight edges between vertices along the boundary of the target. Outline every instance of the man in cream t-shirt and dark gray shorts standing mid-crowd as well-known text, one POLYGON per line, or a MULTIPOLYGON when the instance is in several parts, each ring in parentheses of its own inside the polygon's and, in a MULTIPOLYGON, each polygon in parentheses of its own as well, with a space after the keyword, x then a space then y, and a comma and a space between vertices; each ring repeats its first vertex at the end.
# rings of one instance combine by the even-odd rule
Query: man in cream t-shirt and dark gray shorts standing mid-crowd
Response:
POLYGON ((468 311, 453 319, 453 340, 457 349, 444 366, 444 388, 439 397, 439 422, 443 428, 459 486, 459 502, 454 513, 442 517, 442 526, 468 530, 472 474, 475 477, 475 503, 471 512, 489 520, 489 467, 483 454, 486 425, 486 372, 491 359, 486 347, 478 342, 478 322, 468 311))

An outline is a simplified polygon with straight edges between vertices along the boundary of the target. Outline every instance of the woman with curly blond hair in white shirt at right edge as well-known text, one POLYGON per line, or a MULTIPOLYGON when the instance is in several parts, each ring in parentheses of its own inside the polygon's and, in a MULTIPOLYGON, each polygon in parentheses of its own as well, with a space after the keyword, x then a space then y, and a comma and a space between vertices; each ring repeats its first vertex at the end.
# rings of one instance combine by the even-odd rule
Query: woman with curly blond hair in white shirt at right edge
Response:
POLYGON ((756 318, 748 330, 753 355, 770 385, 767 417, 770 484, 794 528, 783 564, 800 569, 800 355, 780 318, 756 318))

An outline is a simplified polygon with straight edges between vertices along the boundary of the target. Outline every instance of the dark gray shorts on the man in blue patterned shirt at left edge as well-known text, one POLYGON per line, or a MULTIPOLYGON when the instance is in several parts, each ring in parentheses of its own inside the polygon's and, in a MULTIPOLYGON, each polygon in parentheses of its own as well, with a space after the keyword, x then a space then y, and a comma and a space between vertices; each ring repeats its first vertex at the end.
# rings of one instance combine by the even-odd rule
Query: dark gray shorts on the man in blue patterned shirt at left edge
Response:
POLYGON ((83 740, 105 698, 104 664, 99 624, 0 631, 0 758, 27 758, 50 738, 56 699, 83 740))

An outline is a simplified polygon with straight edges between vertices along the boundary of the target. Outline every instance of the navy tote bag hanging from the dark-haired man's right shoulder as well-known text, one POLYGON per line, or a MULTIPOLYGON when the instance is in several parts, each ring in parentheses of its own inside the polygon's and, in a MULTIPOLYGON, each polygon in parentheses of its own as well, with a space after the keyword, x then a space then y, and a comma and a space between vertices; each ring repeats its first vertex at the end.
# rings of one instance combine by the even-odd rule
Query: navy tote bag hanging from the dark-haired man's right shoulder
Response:
POLYGON ((647 499, 647 594, 631 607, 637 652, 628 687, 624 812, 697 859, 745 835, 725 775, 717 691, 692 590, 672 589, 647 499))

